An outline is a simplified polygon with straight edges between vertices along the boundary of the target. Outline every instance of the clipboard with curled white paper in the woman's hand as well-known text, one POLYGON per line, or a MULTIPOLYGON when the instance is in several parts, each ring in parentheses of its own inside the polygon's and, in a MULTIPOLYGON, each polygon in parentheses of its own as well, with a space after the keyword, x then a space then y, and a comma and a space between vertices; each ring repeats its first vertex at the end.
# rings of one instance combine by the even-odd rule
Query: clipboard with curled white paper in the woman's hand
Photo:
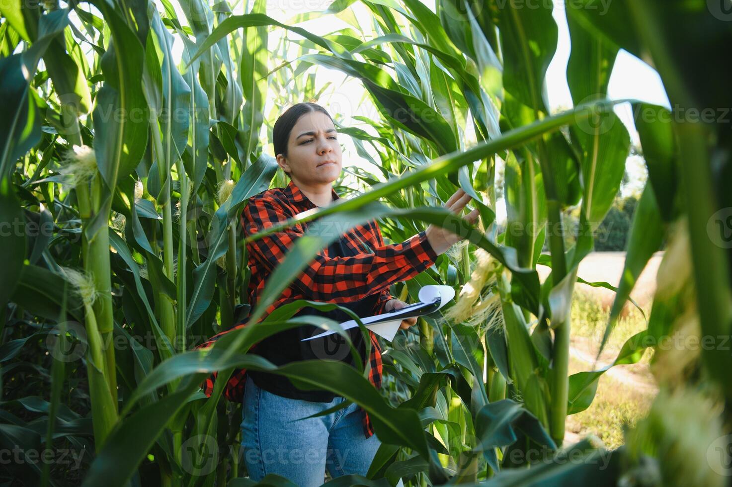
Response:
MULTIPOLYGON (((381 335, 386 341, 392 341, 394 339, 394 335, 397 334, 399 325, 403 319, 410 318, 411 316, 422 316, 428 313, 434 313, 444 305, 447 305, 447 303, 455 297, 455 289, 452 289, 450 286, 422 286, 422 289, 419 289, 418 297, 419 302, 406 305, 400 310, 368 316, 366 318, 362 318, 361 321, 369 330, 373 331, 377 335, 381 335)), ((354 319, 343 321, 343 323, 340 324, 340 327, 343 328, 343 330, 349 330, 357 326, 359 326, 359 324, 356 323, 356 320, 354 319)), ((318 335, 303 338, 301 341, 321 338, 335 332, 335 330, 327 330, 319 333, 318 335)))

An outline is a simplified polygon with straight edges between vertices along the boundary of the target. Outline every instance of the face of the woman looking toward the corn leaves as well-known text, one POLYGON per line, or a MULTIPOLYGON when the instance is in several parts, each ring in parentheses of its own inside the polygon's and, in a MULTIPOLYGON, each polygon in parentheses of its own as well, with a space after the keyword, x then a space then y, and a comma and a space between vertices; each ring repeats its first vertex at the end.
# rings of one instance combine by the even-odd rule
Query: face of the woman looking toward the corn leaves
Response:
POLYGON ((320 111, 301 116, 290 132, 287 157, 277 155, 277 163, 295 182, 305 185, 328 184, 340 176, 342 153, 330 117, 320 111))

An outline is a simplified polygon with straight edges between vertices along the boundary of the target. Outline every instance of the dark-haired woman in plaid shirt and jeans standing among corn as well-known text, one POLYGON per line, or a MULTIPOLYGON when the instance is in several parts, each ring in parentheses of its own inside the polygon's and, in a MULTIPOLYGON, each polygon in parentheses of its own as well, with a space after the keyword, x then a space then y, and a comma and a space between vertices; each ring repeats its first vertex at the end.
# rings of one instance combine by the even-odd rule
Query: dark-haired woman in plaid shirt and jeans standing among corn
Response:
MULTIPOLYGON (((285 188, 266 190, 250 198, 242 215, 247 235, 340 198, 332 183, 340 176, 341 149, 335 124, 323 107, 315 103, 293 105, 275 122, 273 138, 277 163, 290 182, 285 188)), ((459 190, 445 207, 459 214, 469 199, 459 190)), ((477 216, 474 210, 466 220, 472 223, 477 216)), ((266 278, 306 229, 307 223, 297 225, 247 245, 252 271, 250 303, 258 302, 266 278)), ((406 242, 385 245, 375 221, 356 226, 318 253, 264 316, 298 299, 335 302, 361 317, 403 308, 406 303, 389 294, 389 285, 414 278, 460 239, 430 225, 406 242)), ((302 308, 295 316, 306 314, 327 316, 338 322, 350 319, 340 310, 320 312, 314 308, 302 308)), ((406 329, 416 322, 417 318, 405 319, 400 328, 406 329)), ((306 325, 279 332, 257 343, 255 353, 276 365, 326 358, 355 365, 348 344, 337 333, 301 341, 321 331, 306 325)), ((348 332, 355 349, 364 357, 365 343, 359 328, 348 332)), ((378 388, 381 350, 376 335, 369 334, 369 379, 378 388)), ((380 443, 368 414, 357 404, 309 417, 341 404, 344 398, 327 390, 299 390, 285 376, 261 371, 247 371, 245 375, 239 371, 239 375, 232 376, 227 397, 241 394, 236 387, 242 384, 242 447, 250 478, 261 480, 264 475, 275 473, 299 486, 320 486, 326 467, 332 477, 366 475, 380 443)))

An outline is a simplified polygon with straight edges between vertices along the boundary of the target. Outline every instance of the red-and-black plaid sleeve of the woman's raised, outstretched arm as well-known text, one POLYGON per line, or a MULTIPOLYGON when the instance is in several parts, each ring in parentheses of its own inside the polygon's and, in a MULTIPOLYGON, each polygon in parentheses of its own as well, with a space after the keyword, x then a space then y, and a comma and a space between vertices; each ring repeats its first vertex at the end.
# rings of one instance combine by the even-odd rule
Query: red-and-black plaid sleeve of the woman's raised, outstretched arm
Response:
MULTIPOLYGON (((242 218, 244 234, 256 234, 293 216, 273 198, 250 198, 242 218)), ((263 267, 273 270, 304 233, 300 225, 285 228, 249 242, 247 250, 263 267)), ((383 239, 379 243, 381 245, 376 246, 373 253, 350 257, 329 258, 321 250, 296 276, 291 288, 309 300, 349 302, 388 292, 392 283, 414 278, 437 259, 437 253, 427 241, 426 231, 399 244, 384 245, 383 239)), ((379 301, 386 302, 386 297, 379 301)))

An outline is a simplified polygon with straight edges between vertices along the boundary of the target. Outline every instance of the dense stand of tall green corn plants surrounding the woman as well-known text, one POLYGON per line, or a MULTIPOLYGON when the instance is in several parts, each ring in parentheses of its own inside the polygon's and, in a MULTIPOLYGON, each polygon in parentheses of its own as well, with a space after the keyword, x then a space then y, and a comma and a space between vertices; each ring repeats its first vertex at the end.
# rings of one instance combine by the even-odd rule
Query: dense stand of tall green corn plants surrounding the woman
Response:
POLYGON ((678 453, 679 442, 684 452, 706 446, 684 442, 672 421, 693 406, 709 410, 693 423, 703 439, 728 431, 729 408, 714 412, 731 397, 730 358, 720 347, 654 356, 676 367, 657 373, 660 398, 629 431, 627 447, 563 442, 567 415, 590 406, 607 370, 569 376, 569 305, 630 150, 613 107, 632 107, 649 182, 603 344, 651 254, 666 237, 671 245, 648 329, 612 365, 637 362, 673 330, 730 334, 728 126, 721 117, 684 118, 690 108, 731 106, 722 85, 729 64, 715 48, 732 37, 725 12, 701 0, 666 7, 616 0, 603 11, 591 1, 568 5, 575 106, 552 113, 545 97, 557 44, 550 2, 441 0, 431 10, 418 0, 362 0, 370 13, 358 21, 353 3, 297 19, 351 19, 354 29, 322 37, 269 17, 263 0, 246 2, 242 15, 234 4, 198 0, 0 6, 7 114, 0 223, 12 228, 2 237, 0 442, 20 445, 25 459, 12 474, 42 485, 64 478, 90 486, 241 483, 241 405, 223 398, 223 387, 243 367, 323 387, 367 410, 382 441, 368 478, 333 483, 559 485, 580 475, 610 485, 656 472, 663 485, 721 485, 699 466, 703 458, 678 453), (684 29, 692 39, 678 34, 684 29), (275 31, 284 37, 269 49, 275 31), (288 56, 291 44, 296 59, 288 56), (620 49, 656 67, 671 111, 607 99, 620 49), (358 124, 334 115, 380 174, 347 168, 355 184, 343 178, 336 186, 348 198, 244 237, 238 217, 247 199, 286 184, 266 144, 277 108, 302 100, 327 106, 329 87, 316 92, 314 83, 324 69, 358 79, 376 107, 378 116, 358 116, 358 124), (275 101, 269 113, 266 100, 275 101), (495 213, 499 160, 505 231, 495 213), (477 227, 440 208, 456 187, 473 196, 477 227), (580 225, 567 239, 561 215, 575 206, 580 225), (317 316, 292 317, 333 303, 299 300, 263 313, 335 239, 329 225, 373 218, 392 242, 425 223, 465 238, 432 269, 392 286, 408 300, 421 286, 444 283, 457 299, 420 319, 418 330, 383 343, 384 387, 370 387, 363 367, 327 360, 277 367, 250 352, 290 327, 337 328, 317 316), (246 243, 306 222, 307 237, 252 309, 246 243), (538 264, 552 269, 543 282, 538 264), (240 323, 255 326, 195 349, 240 323), (208 397, 199 387, 214 372, 208 397), (41 445, 88 457, 72 472, 60 462, 38 466, 28 453, 41 445), (537 451, 545 461, 518 468, 537 451), (597 460, 605 455, 603 470, 597 460))

